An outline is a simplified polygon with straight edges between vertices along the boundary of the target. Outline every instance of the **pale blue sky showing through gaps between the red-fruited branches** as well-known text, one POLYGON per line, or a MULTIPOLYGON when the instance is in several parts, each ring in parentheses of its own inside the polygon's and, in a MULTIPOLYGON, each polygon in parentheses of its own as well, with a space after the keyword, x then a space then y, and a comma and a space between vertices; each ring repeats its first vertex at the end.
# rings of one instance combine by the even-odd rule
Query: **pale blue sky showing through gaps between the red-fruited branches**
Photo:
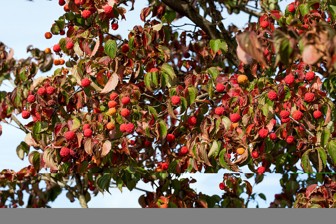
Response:
MULTIPOLYGON (((15 1, 1 1, 2 10, 0 13, 0 41, 3 42, 10 48, 14 49, 14 58, 22 59, 29 57, 27 53, 27 47, 33 45, 39 49, 45 49, 47 47, 52 47, 54 44, 58 43, 59 39, 64 36, 54 35, 51 39, 45 39, 44 33, 50 31, 51 25, 55 20, 64 14, 62 6, 58 5, 58 0, 47 1, 47 0, 15 0, 15 1)), ((286 5, 290 1, 282 1, 280 3, 282 11, 284 11, 286 5)), ((127 37, 129 30, 132 30, 135 25, 143 25, 140 20, 140 11, 143 7, 148 5, 147 0, 136 0, 134 5, 134 10, 129 11, 125 14, 126 21, 119 22, 119 29, 113 31, 114 34, 120 34, 123 38, 127 37)), ((128 10, 130 7, 123 6, 128 10)), ((246 27, 248 22, 248 16, 246 13, 242 12, 239 15, 232 14, 228 15, 226 10, 222 13, 224 18, 223 23, 227 28, 230 24, 235 24, 239 28, 246 27)), ((252 21, 256 21, 254 17, 252 21)), ((187 18, 179 20, 178 24, 192 23, 187 18)), ((111 31, 112 32, 112 31, 111 31)), ((39 72, 36 77, 39 76, 50 76, 57 66, 53 66, 52 70, 46 73, 39 72)), ((13 87, 7 81, 0 86, 0 91, 11 91, 13 87)), ((19 115, 17 118, 23 124, 26 124, 32 120, 24 120, 19 115)), ((12 122, 13 125, 16 125, 12 122)), ((3 169, 12 169, 14 171, 19 171, 22 167, 29 165, 28 157, 24 160, 20 160, 16 155, 16 147, 21 141, 24 141, 26 134, 13 126, 1 122, 2 125, 2 135, 0 136, 0 171, 3 169)), ((32 147, 31 147, 32 150, 32 147)), ((41 172, 45 172, 42 170, 41 172)), ((249 172, 248 169, 244 169, 243 172, 249 172)), ((262 199, 258 199, 259 207, 268 207, 269 203, 274 200, 274 195, 281 192, 281 186, 279 179, 281 175, 278 174, 267 174, 267 178, 264 181, 256 185, 253 190, 258 193, 264 193, 266 195, 266 202, 262 199)), ((222 181, 223 172, 218 174, 184 174, 183 177, 193 177, 198 182, 192 184, 197 190, 197 192, 206 193, 209 195, 218 194, 220 195, 222 191, 219 189, 218 184, 222 181)), ((243 176, 245 178, 245 176, 243 176)), ((253 185, 252 179, 249 179, 250 183, 253 185)), ((139 183, 137 186, 146 190, 151 190, 151 186, 144 183, 139 183)), ((111 189, 111 194, 104 194, 97 197, 93 197, 88 203, 89 207, 107 207, 107 208, 135 208, 140 207, 138 203, 138 198, 142 195, 141 191, 133 190, 130 192, 127 188, 123 189, 123 193, 119 189, 111 189)), ((25 195, 28 197, 28 195, 25 195)), ((50 204, 52 207, 56 208, 77 208, 80 207, 79 202, 75 201, 71 203, 69 199, 66 198, 65 192, 59 196, 55 202, 50 204)), ((249 207, 255 207, 255 203, 249 204, 249 207)))

